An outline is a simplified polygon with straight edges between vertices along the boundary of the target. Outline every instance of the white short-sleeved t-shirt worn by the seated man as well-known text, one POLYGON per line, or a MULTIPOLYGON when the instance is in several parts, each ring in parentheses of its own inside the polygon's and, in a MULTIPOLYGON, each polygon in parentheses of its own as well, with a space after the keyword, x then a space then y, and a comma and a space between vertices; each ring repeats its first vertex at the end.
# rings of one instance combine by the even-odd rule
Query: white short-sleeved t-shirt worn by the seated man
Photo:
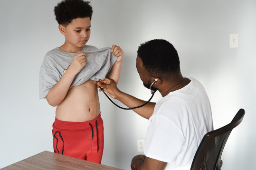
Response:
POLYGON ((213 130, 209 98, 194 78, 156 102, 149 119, 144 153, 167 162, 165 170, 190 170, 203 136, 213 130))

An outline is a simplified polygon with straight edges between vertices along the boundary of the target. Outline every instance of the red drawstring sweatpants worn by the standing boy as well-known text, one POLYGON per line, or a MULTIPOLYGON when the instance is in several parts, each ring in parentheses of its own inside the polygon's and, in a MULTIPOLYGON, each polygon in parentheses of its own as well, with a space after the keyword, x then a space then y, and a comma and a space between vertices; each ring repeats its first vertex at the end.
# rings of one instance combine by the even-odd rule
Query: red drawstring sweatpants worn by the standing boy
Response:
POLYGON ((104 127, 101 115, 87 122, 55 119, 53 123, 55 153, 101 163, 104 148, 104 127))

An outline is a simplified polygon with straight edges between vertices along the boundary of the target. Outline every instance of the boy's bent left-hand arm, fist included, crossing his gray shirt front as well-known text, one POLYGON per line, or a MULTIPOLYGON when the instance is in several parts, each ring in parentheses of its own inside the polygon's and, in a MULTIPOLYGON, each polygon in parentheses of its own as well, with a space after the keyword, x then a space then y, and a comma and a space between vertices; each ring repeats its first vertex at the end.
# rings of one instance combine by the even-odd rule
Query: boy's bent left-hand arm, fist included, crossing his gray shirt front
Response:
POLYGON ((85 56, 87 57, 88 55, 84 52, 74 56, 64 75, 60 78, 58 83, 49 90, 46 99, 51 106, 57 106, 65 99, 66 93, 68 92, 76 74, 79 73, 86 65, 85 56))

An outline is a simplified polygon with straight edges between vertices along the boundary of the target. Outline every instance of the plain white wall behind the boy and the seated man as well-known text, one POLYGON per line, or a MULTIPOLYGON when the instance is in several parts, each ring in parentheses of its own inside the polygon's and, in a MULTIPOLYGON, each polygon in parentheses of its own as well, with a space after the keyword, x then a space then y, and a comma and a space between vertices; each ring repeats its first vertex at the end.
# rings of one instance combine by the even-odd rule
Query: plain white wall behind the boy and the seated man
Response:
MULTIPOLYGON (((53 151, 55 108, 38 99, 38 71, 45 53, 62 45, 53 8, 60 0, 0 0, 0 168, 44 150, 53 151)), ((162 38, 176 47, 183 76, 206 88, 215 128, 246 110, 224 149, 222 170, 255 169, 256 1, 91 0, 89 45, 117 44, 124 59, 118 87, 147 100, 135 69, 140 43, 162 38), (239 34, 229 48, 229 34, 239 34)), ((147 120, 120 110, 100 93, 105 145, 102 163, 125 170, 144 138, 147 120)), ((157 93, 154 101, 161 98, 157 93)), ((119 102, 118 102, 119 103, 119 102)))

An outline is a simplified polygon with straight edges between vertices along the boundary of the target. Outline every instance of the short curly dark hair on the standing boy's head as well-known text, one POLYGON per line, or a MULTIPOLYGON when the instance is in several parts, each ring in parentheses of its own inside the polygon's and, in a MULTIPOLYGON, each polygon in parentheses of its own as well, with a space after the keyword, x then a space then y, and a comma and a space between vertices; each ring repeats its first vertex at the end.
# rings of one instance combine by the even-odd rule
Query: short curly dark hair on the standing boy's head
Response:
POLYGON ((54 14, 59 25, 67 26, 73 19, 90 17, 92 19, 93 8, 89 1, 63 0, 54 8, 54 14))

